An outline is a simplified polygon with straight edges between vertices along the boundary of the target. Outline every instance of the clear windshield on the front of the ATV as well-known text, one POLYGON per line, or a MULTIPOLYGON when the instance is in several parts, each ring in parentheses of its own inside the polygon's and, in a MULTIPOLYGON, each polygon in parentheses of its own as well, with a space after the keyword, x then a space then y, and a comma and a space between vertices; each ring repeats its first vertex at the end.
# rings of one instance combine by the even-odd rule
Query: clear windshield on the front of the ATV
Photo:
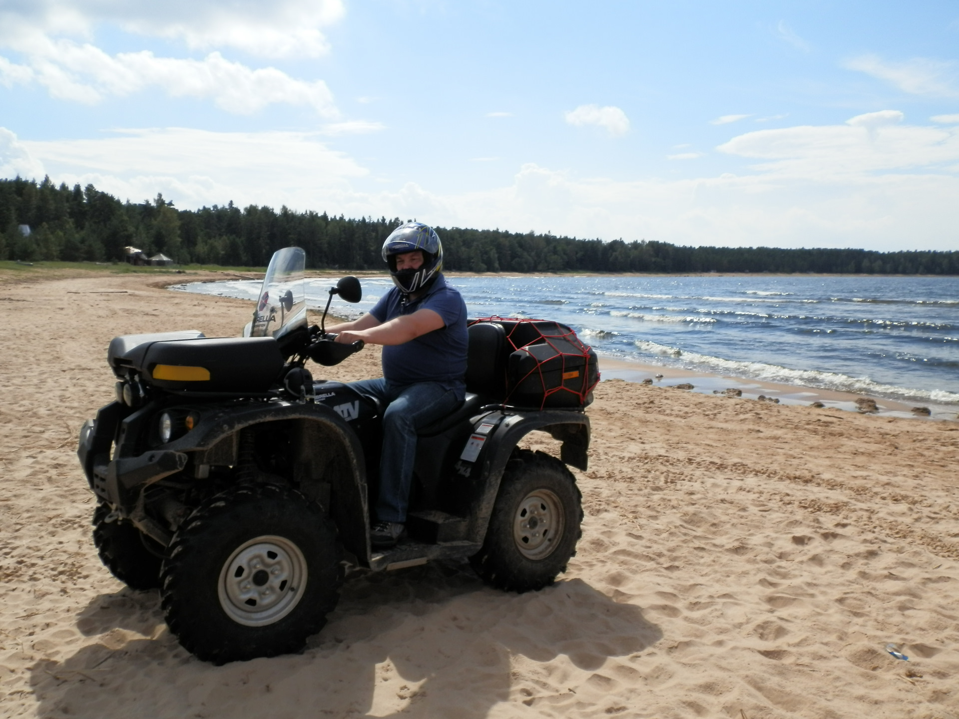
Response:
POLYGON ((301 248, 284 247, 273 253, 246 336, 280 337, 306 327, 305 270, 306 252, 301 248))

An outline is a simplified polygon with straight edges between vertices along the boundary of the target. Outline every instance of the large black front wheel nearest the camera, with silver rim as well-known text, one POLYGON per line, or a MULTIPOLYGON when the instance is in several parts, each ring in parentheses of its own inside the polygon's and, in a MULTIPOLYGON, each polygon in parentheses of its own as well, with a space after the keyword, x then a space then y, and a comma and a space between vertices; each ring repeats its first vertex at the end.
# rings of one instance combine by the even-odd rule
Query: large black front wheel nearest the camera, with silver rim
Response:
POLYGON ((299 651, 326 623, 343 579, 336 529, 289 487, 233 487, 183 522, 161 571, 167 625, 223 664, 299 651))

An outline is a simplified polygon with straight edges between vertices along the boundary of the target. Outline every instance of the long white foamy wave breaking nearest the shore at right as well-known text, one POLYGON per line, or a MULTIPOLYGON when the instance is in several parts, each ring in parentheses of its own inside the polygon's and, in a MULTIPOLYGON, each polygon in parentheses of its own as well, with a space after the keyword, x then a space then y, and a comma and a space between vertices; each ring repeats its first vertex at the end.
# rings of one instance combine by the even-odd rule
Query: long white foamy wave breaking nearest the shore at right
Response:
POLYGON ((897 400, 919 400, 941 404, 959 404, 959 394, 941 389, 914 389, 894 384, 873 382, 867 377, 851 377, 839 372, 822 372, 814 369, 792 369, 778 364, 764 362, 722 359, 698 352, 686 352, 678 347, 638 340, 634 343, 641 352, 657 357, 681 359, 688 368, 708 368, 733 376, 745 377, 763 382, 781 384, 803 384, 820 389, 832 389, 841 392, 873 394, 897 400))

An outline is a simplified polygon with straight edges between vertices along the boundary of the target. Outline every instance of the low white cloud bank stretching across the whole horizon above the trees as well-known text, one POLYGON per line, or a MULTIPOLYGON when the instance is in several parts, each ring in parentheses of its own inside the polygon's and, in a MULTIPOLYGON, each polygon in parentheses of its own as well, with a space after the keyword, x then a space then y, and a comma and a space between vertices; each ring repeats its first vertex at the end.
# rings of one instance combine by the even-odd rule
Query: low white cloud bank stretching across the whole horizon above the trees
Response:
POLYGON ((746 132, 719 149, 711 163, 725 157, 727 167, 711 176, 620 180, 530 164, 503 185, 454 194, 404 177, 382 184, 309 133, 130 129, 34 142, 0 131, 8 176, 16 166, 24 176, 93 182, 133 201, 162 192, 183 208, 233 199, 675 244, 954 249, 959 242, 959 127, 912 126, 887 110, 836 125, 746 132), (743 159, 756 164, 743 168, 743 159))

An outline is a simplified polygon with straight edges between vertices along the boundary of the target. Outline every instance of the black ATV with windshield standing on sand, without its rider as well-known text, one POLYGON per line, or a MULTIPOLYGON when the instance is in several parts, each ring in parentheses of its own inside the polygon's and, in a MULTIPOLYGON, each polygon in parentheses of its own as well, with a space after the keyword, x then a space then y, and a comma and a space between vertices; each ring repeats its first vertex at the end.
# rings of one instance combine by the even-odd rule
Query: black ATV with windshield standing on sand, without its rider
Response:
MULTIPOLYGON (((587 403, 507 402, 510 328, 488 321, 469 328, 465 401, 419 432, 407 536, 371 549, 383 407, 304 367, 363 348, 333 341, 325 311, 307 327, 304 266, 297 247, 273 256, 242 337, 115 337, 117 399, 80 432, 101 559, 132 589, 159 589, 170 630, 202 660, 300 650, 347 565, 469 558, 493 587, 539 590, 580 536, 566 465, 586 470, 587 403), (517 448, 532 430, 562 441, 559 459, 517 448)), ((344 277, 334 293, 358 302, 360 283, 344 277)))

